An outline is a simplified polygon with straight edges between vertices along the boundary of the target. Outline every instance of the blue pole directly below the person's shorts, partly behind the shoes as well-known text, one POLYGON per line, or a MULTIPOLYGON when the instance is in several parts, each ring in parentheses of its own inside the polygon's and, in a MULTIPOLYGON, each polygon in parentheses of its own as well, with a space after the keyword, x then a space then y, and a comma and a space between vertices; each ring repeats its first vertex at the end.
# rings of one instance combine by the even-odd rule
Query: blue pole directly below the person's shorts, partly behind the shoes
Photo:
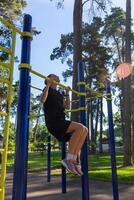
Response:
MULTIPOLYGON (((66 143, 62 142, 61 143, 61 158, 62 160, 66 157, 66 143)), ((66 169, 65 167, 62 165, 61 166, 61 170, 62 170, 62 193, 66 193, 66 169)))

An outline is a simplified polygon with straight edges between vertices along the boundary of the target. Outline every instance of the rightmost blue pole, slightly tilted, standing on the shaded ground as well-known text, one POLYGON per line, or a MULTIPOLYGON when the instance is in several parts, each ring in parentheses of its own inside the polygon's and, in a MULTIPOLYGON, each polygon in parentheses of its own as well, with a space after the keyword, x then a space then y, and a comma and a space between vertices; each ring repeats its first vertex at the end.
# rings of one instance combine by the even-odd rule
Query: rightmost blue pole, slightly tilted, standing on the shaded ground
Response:
POLYGON ((108 107, 108 123, 109 123, 109 144, 110 144, 111 167, 112 167, 113 199, 119 200, 110 81, 107 81, 106 91, 108 97, 107 107, 108 107))

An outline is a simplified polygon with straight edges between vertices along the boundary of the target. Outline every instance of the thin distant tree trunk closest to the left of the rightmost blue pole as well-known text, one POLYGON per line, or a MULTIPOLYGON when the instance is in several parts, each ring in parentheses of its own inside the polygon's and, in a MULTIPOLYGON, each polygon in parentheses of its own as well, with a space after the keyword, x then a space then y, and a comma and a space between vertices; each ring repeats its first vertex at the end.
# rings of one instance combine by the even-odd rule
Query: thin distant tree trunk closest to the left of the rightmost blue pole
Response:
POLYGON ((103 99, 100 100, 100 139, 99 139, 99 153, 103 153, 103 146, 102 146, 102 131, 103 131, 103 99))

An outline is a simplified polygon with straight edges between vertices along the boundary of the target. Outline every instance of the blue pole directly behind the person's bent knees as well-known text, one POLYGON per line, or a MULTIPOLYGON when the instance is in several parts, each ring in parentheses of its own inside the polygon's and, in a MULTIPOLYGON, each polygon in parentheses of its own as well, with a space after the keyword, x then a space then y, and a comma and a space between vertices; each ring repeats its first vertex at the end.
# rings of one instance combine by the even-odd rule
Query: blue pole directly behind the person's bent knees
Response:
MULTIPOLYGON (((78 63, 78 82, 84 82, 84 63, 78 63)), ((79 85, 79 92, 85 93, 85 85, 79 85)), ((85 107, 85 96, 79 97, 79 107, 85 107)), ((86 111, 80 111, 80 122, 86 125, 86 111)), ((84 175, 81 177, 82 181, 82 200, 89 200, 89 178, 88 178, 88 152, 87 139, 82 147, 81 165, 84 175)))

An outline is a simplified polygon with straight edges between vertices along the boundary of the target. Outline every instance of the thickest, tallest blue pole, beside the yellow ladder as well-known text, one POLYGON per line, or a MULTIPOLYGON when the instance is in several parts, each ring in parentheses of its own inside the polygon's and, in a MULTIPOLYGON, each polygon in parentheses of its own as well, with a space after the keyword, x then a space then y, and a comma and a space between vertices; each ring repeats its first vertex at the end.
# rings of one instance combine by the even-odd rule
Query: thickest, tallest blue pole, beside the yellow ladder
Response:
MULTIPOLYGON (((24 16, 23 31, 31 32, 32 18, 24 16)), ((30 64, 31 39, 22 38, 21 63, 30 64)), ((17 109, 16 152, 13 178, 12 200, 26 200, 27 193, 27 160, 28 160, 28 132, 29 132, 29 70, 20 69, 19 99, 17 109)))

